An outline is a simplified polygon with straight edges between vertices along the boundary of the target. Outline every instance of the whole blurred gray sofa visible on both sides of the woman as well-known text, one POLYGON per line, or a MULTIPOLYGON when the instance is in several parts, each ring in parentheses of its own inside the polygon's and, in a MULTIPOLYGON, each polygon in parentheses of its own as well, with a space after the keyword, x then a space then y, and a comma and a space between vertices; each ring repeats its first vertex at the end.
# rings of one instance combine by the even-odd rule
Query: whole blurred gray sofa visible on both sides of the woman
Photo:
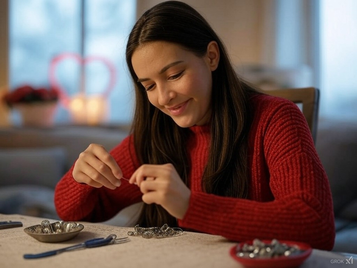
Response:
MULTIPOLYGON (((53 189, 90 143, 108 150, 127 127, 0 129, 0 213, 58 218, 53 189)), ((357 125, 319 120, 316 149, 333 193, 336 217, 334 251, 357 253, 357 125)), ((130 226, 140 204, 120 212, 108 224, 130 226)))

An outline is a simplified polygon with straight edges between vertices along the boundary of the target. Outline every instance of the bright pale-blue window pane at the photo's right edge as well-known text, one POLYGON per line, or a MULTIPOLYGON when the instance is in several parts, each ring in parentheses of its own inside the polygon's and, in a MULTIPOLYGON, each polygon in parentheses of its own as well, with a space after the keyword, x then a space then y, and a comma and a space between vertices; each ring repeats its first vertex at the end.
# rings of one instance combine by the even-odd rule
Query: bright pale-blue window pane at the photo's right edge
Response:
POLYGON ((357 121, 357 1, 320 0, 321 116, 357 121))

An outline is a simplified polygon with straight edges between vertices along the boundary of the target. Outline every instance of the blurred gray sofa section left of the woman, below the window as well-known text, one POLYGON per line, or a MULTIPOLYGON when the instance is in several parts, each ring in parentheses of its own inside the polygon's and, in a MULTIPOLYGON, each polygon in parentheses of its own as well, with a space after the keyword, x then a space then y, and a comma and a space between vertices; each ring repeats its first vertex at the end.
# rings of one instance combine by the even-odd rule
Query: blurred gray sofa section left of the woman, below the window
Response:
POLYGON ((0 129, 0 213, 58 218, 54 188, 90 143, 107 150, 127 127, 0 129))

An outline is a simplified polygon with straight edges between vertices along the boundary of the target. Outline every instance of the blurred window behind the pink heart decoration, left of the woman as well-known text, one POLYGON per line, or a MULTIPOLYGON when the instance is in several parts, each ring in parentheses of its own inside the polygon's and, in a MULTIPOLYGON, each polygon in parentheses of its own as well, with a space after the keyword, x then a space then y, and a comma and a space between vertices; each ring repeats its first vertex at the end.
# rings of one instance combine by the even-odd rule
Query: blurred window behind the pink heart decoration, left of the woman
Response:
MULTIPOLYGON (((125 45, 135 23, 136 1, 11 0, 9 5, 11 89, 23 84, 49 86, 50 64, 58 55, 104 58, 115 67, 116 78, 108 96, 109 123, 130 123, 134 100, 125 45)), ((108 67, 101 60, 82 68, 75 60, 64 58, 55 76, 69 96, 79 93, 81 85, 88 95, 101 94, 110 82, 108 67)), ((68 110, 60 107, 56 122, 69 120, 68 110)))

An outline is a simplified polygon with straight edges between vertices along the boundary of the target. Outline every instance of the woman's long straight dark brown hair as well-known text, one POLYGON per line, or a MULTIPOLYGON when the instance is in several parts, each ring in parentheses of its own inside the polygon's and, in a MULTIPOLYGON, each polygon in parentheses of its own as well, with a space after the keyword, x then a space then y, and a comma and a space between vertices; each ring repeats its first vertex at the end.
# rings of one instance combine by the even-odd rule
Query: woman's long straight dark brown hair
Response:
MULTIPOLYGON (((248 99, 255 91, 238 78, 224 44, 209 23, 192 7, 178 1, 163 2, 147 10, 136 22, 126 46, 126 62, 135 84, 132 134, 140 164, 172 163, 188 185, 190 166, 185 142, 189 130, 177 126, 171 117, 149 103, 132 65, 133 53, 140 45, 159 40, 179 44, 198 57, 206 54, 209 42, 218 43, 220 60, 212 72, 211 143, 202 189, 219 196, 246 198, 248 99)), ((160 205, 144 205, 138 224, 164 223, 175 226, 176 219, 160 205)))

